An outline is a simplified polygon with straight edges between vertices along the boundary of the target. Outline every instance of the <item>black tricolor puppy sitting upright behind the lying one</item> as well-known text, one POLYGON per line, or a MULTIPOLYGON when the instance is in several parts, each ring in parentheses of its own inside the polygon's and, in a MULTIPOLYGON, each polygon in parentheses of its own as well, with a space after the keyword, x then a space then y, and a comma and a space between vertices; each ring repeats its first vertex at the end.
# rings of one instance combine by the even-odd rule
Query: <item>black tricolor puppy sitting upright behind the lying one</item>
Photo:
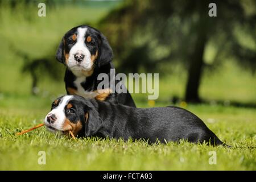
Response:
MULTIPOLYGON (((64 81, 68 94, 135 107, 128 91, 111 93, 109 88, 104 88, 104 92, 97 92, 101 81, 97 80, 98 75, 108 74, 110 87, 110 69, 114 66, 112 48, 96 28, 83 25, 69 30, 60 42, 56 59, 67 66, 64 81)), ((119 82, 112 81, 115 85, 119 82)))

